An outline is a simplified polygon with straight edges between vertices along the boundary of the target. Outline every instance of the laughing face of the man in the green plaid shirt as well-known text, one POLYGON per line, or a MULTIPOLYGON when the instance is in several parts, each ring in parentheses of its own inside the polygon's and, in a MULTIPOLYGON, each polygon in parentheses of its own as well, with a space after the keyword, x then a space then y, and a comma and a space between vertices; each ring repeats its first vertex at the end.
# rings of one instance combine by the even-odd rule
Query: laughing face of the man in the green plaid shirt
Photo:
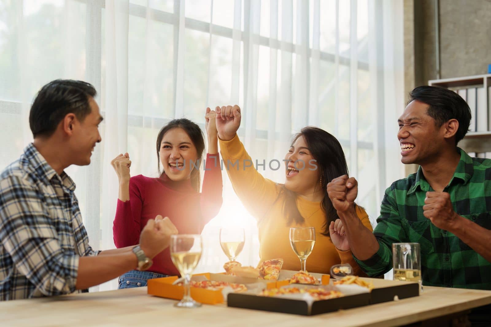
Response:
POLYGON ((445 126, 436 126, 428 115, 428 104, 411 101, 399 118, 397 137, 401 144, 401 161, 404 164, 423 165, 438 155, 445 145, 445 126))

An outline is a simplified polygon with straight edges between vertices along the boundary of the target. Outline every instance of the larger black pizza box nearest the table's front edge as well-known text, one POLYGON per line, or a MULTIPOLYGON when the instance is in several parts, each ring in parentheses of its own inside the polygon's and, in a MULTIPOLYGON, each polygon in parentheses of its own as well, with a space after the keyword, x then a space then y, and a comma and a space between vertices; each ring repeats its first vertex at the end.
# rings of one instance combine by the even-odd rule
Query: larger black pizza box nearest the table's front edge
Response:
MULTIPOLYGON (((320 286, 291 284, 282 287, 310 288, 320 286)), ((306 294, 266 297, 258 295, 259 292, 247 291, 244 293, 229 293, 227 306, 310 316, 370 304, 370 293, 365 287, 358 285, 324 285, 322 287, 328 290, 339 290, 345 296, 314 301, 306 294)))

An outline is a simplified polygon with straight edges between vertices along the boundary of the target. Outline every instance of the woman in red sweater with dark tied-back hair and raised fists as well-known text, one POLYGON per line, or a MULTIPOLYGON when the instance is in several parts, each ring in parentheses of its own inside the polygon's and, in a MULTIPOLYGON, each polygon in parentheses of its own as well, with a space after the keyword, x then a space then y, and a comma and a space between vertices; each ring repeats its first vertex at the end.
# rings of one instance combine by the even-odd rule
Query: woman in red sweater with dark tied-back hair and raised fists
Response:
MULTIPOLYGON (((169 217, 182 234, 200 234, 217 215, 222 203, 222 178, 218 155, 215 111, 206 110, 208 154, 204 163, 203 190, 200 189, 200 163, 205 143, 198 125, 188 119, 174 119, 157 136, 159 174, 130 178, 130 156, 120 154, 111 161, 119 179, 116 217, 112 228, 117 248, 137 245, 140 231, 156 215, 169 217), (198 168, 196 168, 196 166, 198 168)), ((130 271, 119 277, 118 288, 146 286, 156 277, 179 275, 170 259, 169 248, 153 259, 147 271, 130 271)))

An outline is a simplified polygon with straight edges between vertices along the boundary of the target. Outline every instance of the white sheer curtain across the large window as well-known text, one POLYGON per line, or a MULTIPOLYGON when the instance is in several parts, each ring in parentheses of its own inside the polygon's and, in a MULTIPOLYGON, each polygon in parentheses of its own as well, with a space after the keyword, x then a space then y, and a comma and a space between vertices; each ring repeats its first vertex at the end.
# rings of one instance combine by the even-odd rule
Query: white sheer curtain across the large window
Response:
MULTIPOLYGON (((71 167, 96 249, 114 247, 117 179, 110 160, 157 176, 155 138, 170 119, 204 126, 207 106, 239 104, 239 135, 260 172, 282 182, 291 136, 307 125, 343 145, 358 203, 378 216, 385 187, 403 177, 396 120, 404 106, 402 0, 0 0, 0 167, 32 140, 28 110, 55 78, 98 90, 103 142, 71 167), (275 165, 273 164, 273 168, 275 165)), ((226 261, 220 226, 246 228, 243 264, 258 261, 255 221, 224 177, 224 204, 203 231, 198 271, 226 261)), ((111 289, 115 282, 95 289, 111 289)))

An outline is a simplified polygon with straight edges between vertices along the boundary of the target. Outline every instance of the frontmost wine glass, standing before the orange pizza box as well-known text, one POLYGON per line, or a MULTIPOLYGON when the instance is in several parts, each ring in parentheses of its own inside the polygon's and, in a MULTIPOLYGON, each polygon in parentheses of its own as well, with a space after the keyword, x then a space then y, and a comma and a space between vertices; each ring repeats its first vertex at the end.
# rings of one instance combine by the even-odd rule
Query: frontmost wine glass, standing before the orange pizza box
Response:
POLYGON ((195 308, 201 303, 191 298, 190 280, 191 273, 201 258, 202 240, 198 234, 180 234, 170 237, 170 257, 174 266, 184 278, 184 296, 181 302, 175 306, 183 308, 195 308))

